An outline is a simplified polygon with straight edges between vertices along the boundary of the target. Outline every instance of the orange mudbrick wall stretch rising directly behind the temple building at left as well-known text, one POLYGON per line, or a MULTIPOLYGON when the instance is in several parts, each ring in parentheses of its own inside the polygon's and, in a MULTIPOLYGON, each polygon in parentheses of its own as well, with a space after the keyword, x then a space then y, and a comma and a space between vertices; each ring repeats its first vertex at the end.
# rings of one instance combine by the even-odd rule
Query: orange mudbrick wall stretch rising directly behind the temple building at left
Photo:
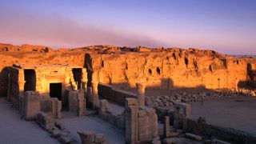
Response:
POLYGON ((54 65, 62 64, 70 66, 84 66, 85 54, 80 50, 55 50, 50 52, 0 52, 0 97, 7 95, 8 70, 7 66, 31 64, 54 65))

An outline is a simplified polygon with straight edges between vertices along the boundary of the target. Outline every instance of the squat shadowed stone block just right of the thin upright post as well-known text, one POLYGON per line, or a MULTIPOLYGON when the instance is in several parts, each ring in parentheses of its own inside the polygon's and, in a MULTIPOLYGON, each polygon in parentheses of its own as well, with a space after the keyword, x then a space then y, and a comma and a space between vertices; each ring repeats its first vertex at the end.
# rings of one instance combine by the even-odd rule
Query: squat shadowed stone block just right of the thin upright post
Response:
POLYGON ((189 104, 182 102, 174 103, 174 128, 186 130, 187 120, 191 115, 191 107, 189 104))

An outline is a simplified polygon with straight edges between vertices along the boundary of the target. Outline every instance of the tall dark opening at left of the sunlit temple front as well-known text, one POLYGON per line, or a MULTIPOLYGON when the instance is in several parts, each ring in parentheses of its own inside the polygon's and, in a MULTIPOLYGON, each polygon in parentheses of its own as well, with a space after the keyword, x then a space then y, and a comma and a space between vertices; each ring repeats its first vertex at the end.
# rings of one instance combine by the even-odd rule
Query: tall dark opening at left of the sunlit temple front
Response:
POLYGON ((35 91, 36 86, 36 78, 35 78, 35 71, 34 70, 24 70, 24 92, 25 91, 35 91))

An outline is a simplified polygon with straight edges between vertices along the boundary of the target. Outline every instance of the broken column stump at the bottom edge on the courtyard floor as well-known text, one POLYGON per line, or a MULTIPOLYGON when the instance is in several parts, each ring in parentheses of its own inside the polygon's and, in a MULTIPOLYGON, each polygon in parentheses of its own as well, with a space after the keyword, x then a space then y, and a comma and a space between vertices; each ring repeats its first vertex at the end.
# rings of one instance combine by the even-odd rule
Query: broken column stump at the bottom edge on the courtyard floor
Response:
POLYGON ((106 144, 104 134, 94 134, 91 131, 78 131, 82 144, 106 144))

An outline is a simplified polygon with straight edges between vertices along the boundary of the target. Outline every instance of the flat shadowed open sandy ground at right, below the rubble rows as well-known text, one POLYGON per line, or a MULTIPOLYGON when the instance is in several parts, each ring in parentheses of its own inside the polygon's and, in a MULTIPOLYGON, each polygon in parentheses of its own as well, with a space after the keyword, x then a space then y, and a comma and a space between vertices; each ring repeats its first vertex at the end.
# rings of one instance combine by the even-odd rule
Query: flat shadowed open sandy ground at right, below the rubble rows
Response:
POLYGON ((191 102, 192 118, 203 116, 206 122, 217 126, 232 127, 256 134, 256 98, 226 98, 191 102))

